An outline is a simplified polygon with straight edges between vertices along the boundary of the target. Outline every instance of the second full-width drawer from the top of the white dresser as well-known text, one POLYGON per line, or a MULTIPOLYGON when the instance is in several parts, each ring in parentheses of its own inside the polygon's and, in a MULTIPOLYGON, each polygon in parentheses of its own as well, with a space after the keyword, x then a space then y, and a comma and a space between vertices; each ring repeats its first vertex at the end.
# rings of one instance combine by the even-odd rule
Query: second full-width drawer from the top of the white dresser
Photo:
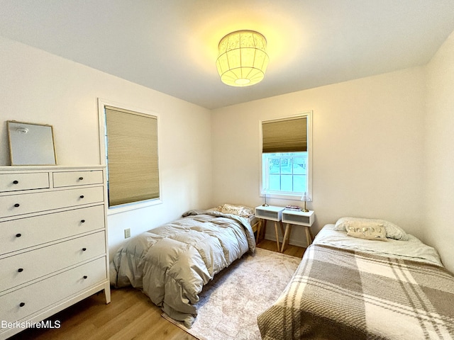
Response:
POLYGON ((0 254, 104 228, 104 205, 0 222, 0 254))

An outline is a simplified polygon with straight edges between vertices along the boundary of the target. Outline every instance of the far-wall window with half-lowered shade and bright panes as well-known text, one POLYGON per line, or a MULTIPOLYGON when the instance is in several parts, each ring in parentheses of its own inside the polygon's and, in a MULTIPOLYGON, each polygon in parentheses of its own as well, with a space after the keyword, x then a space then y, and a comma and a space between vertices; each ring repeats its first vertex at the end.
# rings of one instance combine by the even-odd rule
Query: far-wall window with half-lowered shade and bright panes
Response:
POLYGON ((311 196, 311 130, 311 112, 262 121, 262 194, 311 196))

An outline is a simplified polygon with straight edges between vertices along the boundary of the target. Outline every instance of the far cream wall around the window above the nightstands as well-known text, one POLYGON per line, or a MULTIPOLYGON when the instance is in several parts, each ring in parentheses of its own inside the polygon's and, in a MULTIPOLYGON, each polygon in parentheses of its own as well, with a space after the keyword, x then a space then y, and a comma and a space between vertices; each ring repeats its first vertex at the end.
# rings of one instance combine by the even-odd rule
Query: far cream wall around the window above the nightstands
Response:
MULTIPOLYGON (((353 215, 423 236, 424 91, 417 67, 213 111, 214 203, 262 204, 260 120, 312 110, 314 232, 353 215)), ((305 244, 302 229, 292 233, 292 244, 305 244)), ((275 238, 272 228, 267 238, 275 238)))

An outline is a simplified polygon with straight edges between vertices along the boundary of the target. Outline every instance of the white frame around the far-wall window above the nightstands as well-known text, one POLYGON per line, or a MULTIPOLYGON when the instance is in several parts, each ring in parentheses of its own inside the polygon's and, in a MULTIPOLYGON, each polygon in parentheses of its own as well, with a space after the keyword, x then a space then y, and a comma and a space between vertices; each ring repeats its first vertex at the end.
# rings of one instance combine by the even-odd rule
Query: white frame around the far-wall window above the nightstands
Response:
POLYGON ((270 118, 260 120, 260 183, 259 183, 259 196, 262 198, 277 198, 282 200, 301 200, 302 193, 279 193, 277 191, 270 191, 265 193, 265 187, 263 183, 263 163, 262 163, 262 143, 263 143, 263 135, 262 135, 262 123, 274 120, 274 119, 292 119, 297 117, 306 117, 307 119, 307 195, 309 196, 309 201, 312 200, 312 113, 313 111, 304 111, 298 113, 297 115, 290 115, 287 117, 279 117, 279 118, 270 118))

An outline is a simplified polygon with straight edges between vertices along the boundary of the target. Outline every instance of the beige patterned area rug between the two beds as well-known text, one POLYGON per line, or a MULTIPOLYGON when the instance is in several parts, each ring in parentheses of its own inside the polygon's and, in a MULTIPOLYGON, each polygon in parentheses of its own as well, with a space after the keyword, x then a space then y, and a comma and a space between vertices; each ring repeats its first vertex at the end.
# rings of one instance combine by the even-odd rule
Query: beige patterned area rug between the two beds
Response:
POLYGON ((162 317, 201 340, 260 339, 257 316, 270 307, 301 259, 265 249, 246 254, 205 285, 191 329, 162 317))

